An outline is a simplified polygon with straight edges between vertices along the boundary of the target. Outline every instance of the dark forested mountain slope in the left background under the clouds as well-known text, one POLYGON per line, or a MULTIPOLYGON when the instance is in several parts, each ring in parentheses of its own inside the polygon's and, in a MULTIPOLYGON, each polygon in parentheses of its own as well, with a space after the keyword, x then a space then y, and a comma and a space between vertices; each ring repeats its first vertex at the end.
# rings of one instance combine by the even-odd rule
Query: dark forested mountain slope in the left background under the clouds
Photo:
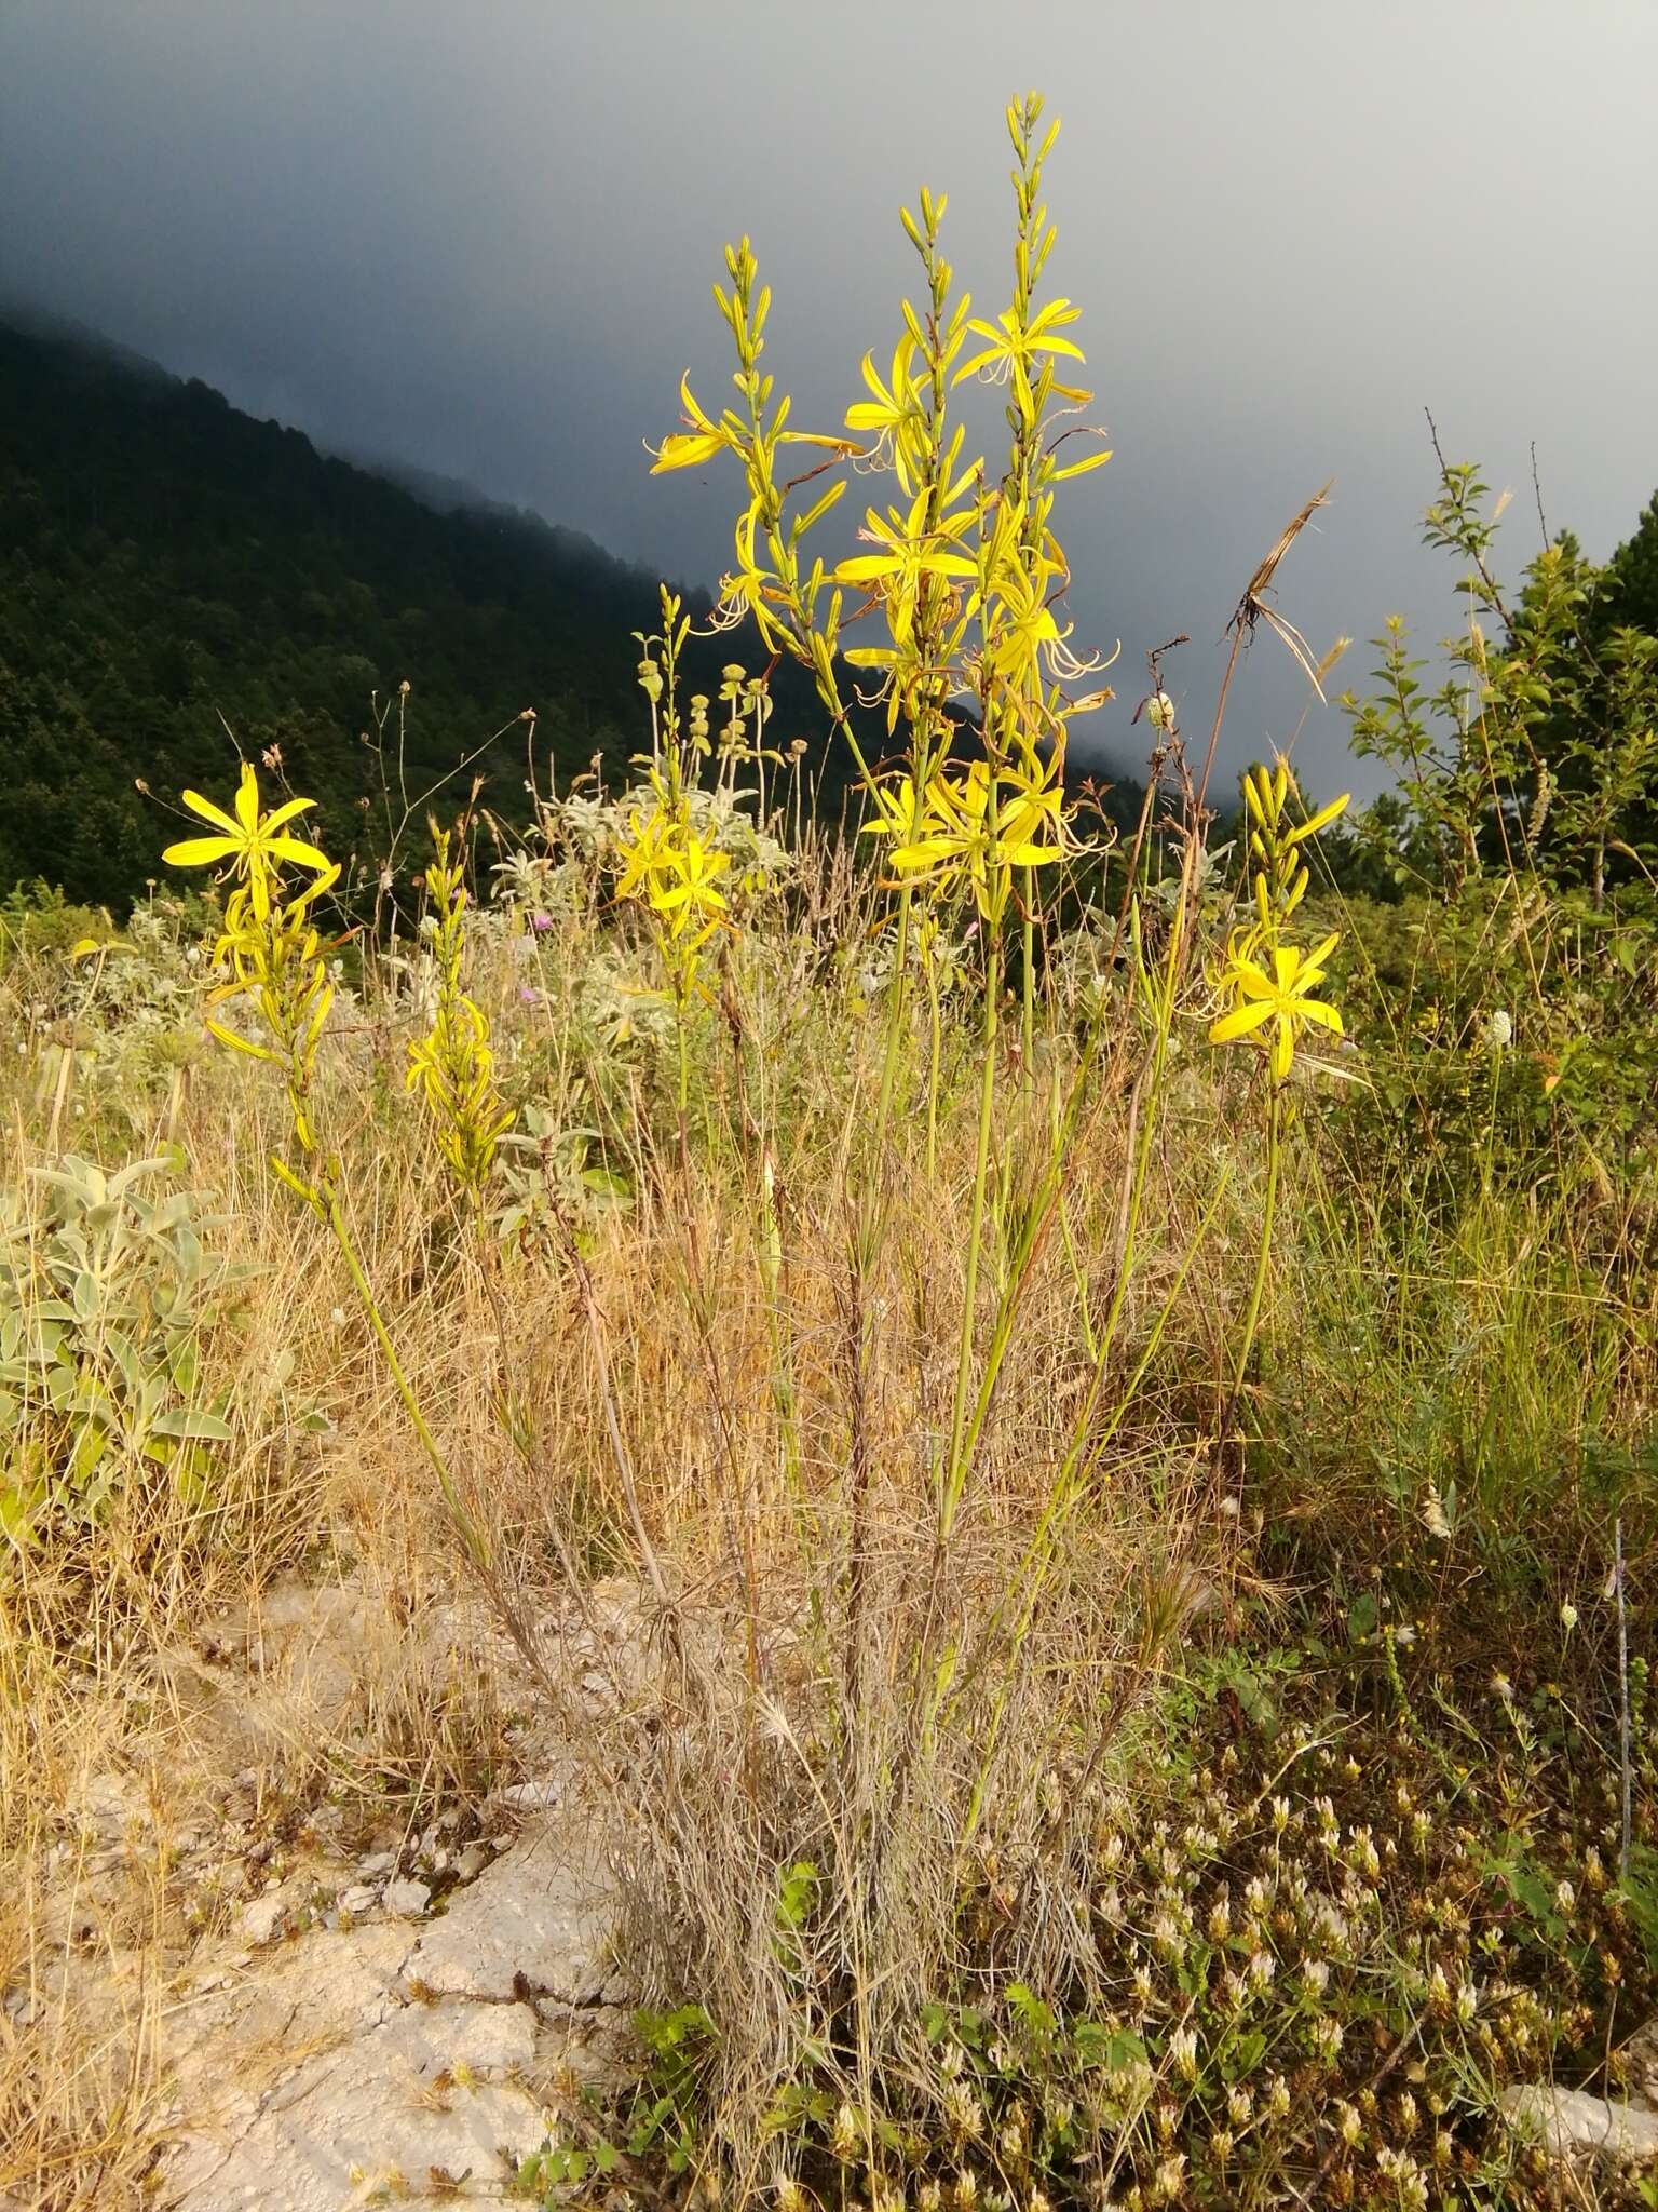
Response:
MULTIPOLYGON (((621 763, 623 639, 654 611, 652 577, 573 531, 440 513, 201 383, 0 325, 0 891, 46 874, 124 909, 161 843, 137 785, 219 787, 225 721, 367 876, 460 759, 524 821, 522 712, 537 785, 621 763)), ((730 644, 692 655, 707 692, 730 644)), ((809 688, 783 670, 776 706, 774 741, 816 761, 809 688)))

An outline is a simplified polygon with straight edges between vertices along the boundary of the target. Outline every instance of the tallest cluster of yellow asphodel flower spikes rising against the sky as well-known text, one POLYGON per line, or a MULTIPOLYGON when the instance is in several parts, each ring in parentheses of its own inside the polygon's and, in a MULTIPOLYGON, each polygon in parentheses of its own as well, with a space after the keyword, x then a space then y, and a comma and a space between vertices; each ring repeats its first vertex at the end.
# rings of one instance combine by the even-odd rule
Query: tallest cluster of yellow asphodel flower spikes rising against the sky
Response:
MULTIPOLYGON (((743 239, 725 252, 730 288, 714 292, 736 345, 736 405, 712 416, 690 383, 681 383, 685 427, 654 449, 657 471, 701 467, 718 453, 738 462, 747 500, 736 518, 736 557, 716 622, 752 617, 767 650, 787 653, 814 672, 864 781, 867 830, 886 843, 898 907, 886 1057, 871 1128, 878 1152, 906 1064, 911 907, 917 898, 935 907, 966 891, 984 925, 977 1148, 951 1436, 937 1471, 940 1542, 948 1540, 962 1502, 1019 1294, 1010 1290, 997 1307, 975 1387, 1004 927, 1017 909, 1026 940, 1019 1064, 1028 1079, 1035 1066, 1037 887, 1041 869, 1066 849, 1068 721, 1110 697, 1105 688, 1088 697, 1066 690, 1101 664, 1072 655, 1068 624, 1057 615, 1068 584, 1068 560, 1052 529, 1057 489, 1110 460, 1103 445, 1088 447, 1096 434, 1077 418, 1090 394, 1059 378, 1061 369, 1070 374, 1068 363, 1083 358, 1066 336, 1079 310, 1068 299, 1037 296, 1054 246, 1041 173, 1057 124, 1043 124, 1035 93, 1008 106, 1006 124, 1015 150, 1012 296, 995 319, 975 319, 966 294, 955 292, 955 274, 940 252, 946 201, 922 190, 917 210, 902 215, 924 274, 920 305, 904 301, 904 327, 889 361, 878 367, 873 354, 864 356, 864 396, 844 418, 849 436, 796 431, 789 398, 774 394, 760 365, 772 294, 758 283, 754 252, 743 239), (1006 392, 1010 440, 999 473, 966 453, 966 429, 951 411, 962 380, 1006 392), (800 447, 805 451, 796 451, 800 447), (842 498, 847 467, 860 473, 891 469, 898 495, 886 507, 869 507, 860 549, 829 564, 814 557, 811 533, 842 498), (884 626, 880 641, 856 635, 862 617, 884 626), (871 770, 847 719, 842 666, 875 681, 889 732, 906 728, 906 761, 891 779, 871 770), (962 719, 975 728, 975 757, 953 763, 955 699, 966 701, 962 719)), ((1037 1181, 1046 1188, 1057 1172, 1050 1161, 1048 1177, 1037 1181)), ((884 1175, 862 1183, 856 1237, 862 1279, 884 1234, 889 1190, 884 1175)), ((1019 1285, 1024 1270, 1012 1267, 1008 1281, 1019 1285)), ((860 1310, 867 1312, 869 1301, 860 1301, 860 1310)), ((862 1360, 862 1345, 858 1356, 862 1360)))

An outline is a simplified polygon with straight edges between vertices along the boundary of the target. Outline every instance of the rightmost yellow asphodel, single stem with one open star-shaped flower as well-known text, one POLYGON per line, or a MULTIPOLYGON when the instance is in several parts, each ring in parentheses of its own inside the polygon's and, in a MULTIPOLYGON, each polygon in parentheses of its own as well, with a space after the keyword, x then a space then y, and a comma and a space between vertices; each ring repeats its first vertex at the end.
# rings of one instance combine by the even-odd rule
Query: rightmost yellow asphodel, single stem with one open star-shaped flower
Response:
POLYGON ((1242 779, 1242 792, 1249 827, 1251 914, 1249 922, 1231 933, 1227 958, 1216 978, 1222 1011, 1209 1024, 1209 1042, 1249 1044, 1260 1051, 1267 1064, 1267 1192, 1260 1210, 1256 1276, 1238 1336, 1222 1429, 1231 1427, 1260 1325, 1260 1301, 1278 1219, 1287 1091, 1295 1053, 1309 1031, 1342 1035, 1340 1011, 1315 995, 1340 938, 1331 933, 1304 949, 1293 942, 1289 927, 1307 896, 1304 845, 1342 814, 1349 794, 1342 792, 1315 814, 1304 814, 1295 776, 1282 754, 1271 768, 1251 768, 1242 779), (1291 821, 1291 801, 1295 812, 1302 812, 1300 821, 1291 821))

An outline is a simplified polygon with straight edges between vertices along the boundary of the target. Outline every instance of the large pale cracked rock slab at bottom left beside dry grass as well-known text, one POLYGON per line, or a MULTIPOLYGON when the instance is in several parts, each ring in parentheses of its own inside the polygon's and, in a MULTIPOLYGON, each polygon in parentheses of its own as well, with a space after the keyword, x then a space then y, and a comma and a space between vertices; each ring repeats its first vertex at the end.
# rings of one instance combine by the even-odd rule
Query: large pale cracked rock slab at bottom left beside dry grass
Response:
POLYGON ((524 1836, 420 1929, 312 1929, 201 1986, 170 2026, 168 2212, 500 2205, 553 2084, 626 2064, 626 2015, 595 2004, 610 1913, 577 1854, 524 1836))

